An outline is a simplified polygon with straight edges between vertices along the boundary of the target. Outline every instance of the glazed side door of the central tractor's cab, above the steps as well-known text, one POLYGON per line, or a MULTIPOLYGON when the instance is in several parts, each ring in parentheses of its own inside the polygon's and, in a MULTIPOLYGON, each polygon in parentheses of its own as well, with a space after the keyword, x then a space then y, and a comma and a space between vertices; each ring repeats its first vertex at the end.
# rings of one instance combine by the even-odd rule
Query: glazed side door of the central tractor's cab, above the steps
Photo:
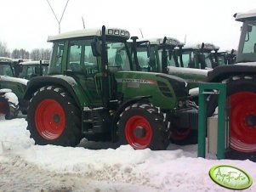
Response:
POLYGON ((82 87, 88 96, 91 106, 102 105, 101 90, 97 83, 100 58, 94 56, 91 48, 92 40, 73 40, 69 42, 66 70, 82 87))

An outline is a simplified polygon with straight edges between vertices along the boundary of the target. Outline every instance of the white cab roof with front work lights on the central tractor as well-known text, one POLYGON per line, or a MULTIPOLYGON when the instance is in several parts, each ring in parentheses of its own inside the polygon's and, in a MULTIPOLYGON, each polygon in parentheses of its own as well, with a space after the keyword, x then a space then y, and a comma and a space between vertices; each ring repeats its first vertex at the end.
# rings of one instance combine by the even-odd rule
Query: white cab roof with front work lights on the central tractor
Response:
MULTIPOLYGON (((124 37, 128 39, 130 34, 127 30, 119 29, 119 28, 106 28, 105 29, 106 36, 112 37, 124 37)), ((83 29, 77 31, 69 31, 60 33, 55 36, 49 36, 48 42, 54 42, 61 39, 68 39, 68 38, 76 38, 76 37, 91 37, 91 36, 101 36, 101 29, 83 29)))

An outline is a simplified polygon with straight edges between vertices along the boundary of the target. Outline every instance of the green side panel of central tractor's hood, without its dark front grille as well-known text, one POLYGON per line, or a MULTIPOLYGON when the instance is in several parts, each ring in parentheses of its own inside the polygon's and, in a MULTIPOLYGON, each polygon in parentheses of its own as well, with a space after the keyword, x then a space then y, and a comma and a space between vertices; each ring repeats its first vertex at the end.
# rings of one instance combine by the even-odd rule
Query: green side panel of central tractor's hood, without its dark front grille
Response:
POLYGON ((157 76, 157 74, 158 73, 136 71, 116 72, 117 92, 123 93, 124 99, 151 95, 150 100, 152 104, 162 109, 174 109, 179 99, 177 99, 174 89, 168 80, 157 76), (157 82, 162 82, 167 85, 170 97, 162 93, 157 82))

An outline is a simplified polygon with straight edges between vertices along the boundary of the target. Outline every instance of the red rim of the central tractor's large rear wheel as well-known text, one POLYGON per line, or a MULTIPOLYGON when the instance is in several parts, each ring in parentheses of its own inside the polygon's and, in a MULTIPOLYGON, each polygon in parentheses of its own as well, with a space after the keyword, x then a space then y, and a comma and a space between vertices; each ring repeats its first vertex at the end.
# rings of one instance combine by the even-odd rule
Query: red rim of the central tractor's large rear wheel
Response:
POLYGON ((65 112, 54 99, 45 99, 37 106, 37 132, 48 140, 59 138, 65 129, 65 112))

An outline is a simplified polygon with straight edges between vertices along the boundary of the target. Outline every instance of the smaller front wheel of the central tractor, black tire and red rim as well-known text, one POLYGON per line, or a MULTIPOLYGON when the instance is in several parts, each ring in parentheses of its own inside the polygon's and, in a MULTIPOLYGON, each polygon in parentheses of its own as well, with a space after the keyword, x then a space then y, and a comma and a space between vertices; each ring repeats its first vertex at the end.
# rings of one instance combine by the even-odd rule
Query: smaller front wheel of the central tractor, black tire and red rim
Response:
POLYGON ((128 106, 117 125, 121 144, 130 144, 136 150, 166 150, 168 147, 168 123, 162 112, 150 104, 128 106))

